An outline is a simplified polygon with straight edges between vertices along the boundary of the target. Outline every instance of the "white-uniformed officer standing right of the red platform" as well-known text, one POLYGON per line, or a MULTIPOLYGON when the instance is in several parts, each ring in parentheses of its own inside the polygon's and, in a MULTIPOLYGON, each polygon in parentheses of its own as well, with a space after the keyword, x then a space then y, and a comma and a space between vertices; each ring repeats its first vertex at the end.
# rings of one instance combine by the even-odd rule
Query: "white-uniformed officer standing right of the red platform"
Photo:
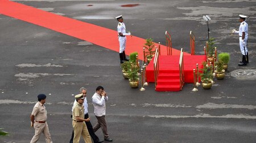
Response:
POLYGON ((240 50, 243 55, 242 61, 238 63, 238 66, 246 66, 247 63, 249 63, 248 59, 248 50, 247 50, 247 41, 248 41, 248 24, 245 22, 245 18, 247 16, 245 15, 239 15, 239 21, 240 21, 240 27, 239 31, 236 31, 236 29, 232 30, 232 33, 239 34, 239 44, 240 44, 240 50))

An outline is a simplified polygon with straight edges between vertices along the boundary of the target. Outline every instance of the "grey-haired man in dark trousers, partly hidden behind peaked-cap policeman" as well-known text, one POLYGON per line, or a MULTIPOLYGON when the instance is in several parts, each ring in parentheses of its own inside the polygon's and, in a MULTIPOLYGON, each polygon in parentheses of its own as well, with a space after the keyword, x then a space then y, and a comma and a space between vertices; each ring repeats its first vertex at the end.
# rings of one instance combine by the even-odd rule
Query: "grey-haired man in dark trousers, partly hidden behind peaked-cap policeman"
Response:
MULTIPOLYGON (((83 95, 84 97, 84 119, 88 119, 89 118, 89 115, 88 115, 88 102, 87 102, 87 99, 86 99, 86 94, 87 94, 87 90, 86 88, 82 87, 80 88, 80 94, 83 95)), ((73 109, 74 107, 76 106, 76 99, 73 103, 73 107, 72 107, 72 112, 73 112, 73 109)), ((103 142, 103 141, 100 141, 100 139, 95 135, 94 131, 93 131, 93 127, 92 127, 92 124, 90 123, 90 121, 88 122, 85 122, 86 124, 86 127, 88 129, 88 132, 90 134, 90 137, 92 137, 93 139, 93 142, 94 143, 99 143, 99 142, 103 142)), ((71 140, 69 141, 69 143, 73 143, 73 138, 74 138, 74 131, 72 132, 72 136, 71 136, 71 140)))

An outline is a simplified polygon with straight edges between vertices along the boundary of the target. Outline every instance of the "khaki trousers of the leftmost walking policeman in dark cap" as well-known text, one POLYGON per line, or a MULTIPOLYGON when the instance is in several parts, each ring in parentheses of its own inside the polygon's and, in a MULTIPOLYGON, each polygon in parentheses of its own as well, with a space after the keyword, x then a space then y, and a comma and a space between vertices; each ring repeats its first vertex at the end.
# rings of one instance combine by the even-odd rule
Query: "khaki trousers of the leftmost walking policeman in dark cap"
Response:
POLYGON ((49 128, 48 128, 48 124, 46 123, 38 123, 35 122, 34 123, 34 128, 35 128, 35 135, 32 137, 32 140, 30 141, 30 143, 34 143, 37 142, 40 138, 41 133, 43 132, 44 137, 46 138, 46 142, 47 143, 52 143, 52 138, 51 135, 49 133, 49 128))

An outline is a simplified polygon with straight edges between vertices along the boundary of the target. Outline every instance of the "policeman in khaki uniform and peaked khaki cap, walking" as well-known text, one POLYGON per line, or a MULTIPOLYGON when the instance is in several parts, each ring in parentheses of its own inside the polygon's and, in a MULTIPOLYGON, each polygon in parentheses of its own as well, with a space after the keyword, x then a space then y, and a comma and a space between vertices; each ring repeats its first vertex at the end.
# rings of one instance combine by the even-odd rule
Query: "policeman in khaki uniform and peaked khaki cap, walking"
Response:
POLYGON ((73 112, 72 112, 72 116, 73 116, 72 125, 74 130, 73 142, 79 143, 80 137, 82 135, 82 138, 84 138, 84 141, 86 143, 92 143, 88 129, 85 124, 85 122, 90 121, 90 117, 87 119, 84 119, 83 103, 84 103, 85 97, 82 94, 77 94, 75 98, 77 102, 76 102, 76 105, 73 107, 73 112))

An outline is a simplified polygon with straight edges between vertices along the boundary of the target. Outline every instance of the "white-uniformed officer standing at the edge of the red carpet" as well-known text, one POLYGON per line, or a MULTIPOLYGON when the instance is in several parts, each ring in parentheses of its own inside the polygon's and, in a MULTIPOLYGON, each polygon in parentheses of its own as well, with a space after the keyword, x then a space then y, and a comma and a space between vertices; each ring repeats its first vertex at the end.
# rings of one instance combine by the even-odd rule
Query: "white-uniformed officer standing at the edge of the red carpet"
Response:
POLYGON ((117 32, 118 32, 118 41, 119 41, 119 58, 120 63, 123 63, 125 61, 128 61, 129 59, 126 59, 125 55, 125 46, 126 46, 126 35, 131 35, 130 32, 126 31, 125 23, 123 23, 123 15, 119 15, 115 17, 117 21, 119 22, 117 25, 117 32), (127 33, 126 33, 127 32, 127 33))

